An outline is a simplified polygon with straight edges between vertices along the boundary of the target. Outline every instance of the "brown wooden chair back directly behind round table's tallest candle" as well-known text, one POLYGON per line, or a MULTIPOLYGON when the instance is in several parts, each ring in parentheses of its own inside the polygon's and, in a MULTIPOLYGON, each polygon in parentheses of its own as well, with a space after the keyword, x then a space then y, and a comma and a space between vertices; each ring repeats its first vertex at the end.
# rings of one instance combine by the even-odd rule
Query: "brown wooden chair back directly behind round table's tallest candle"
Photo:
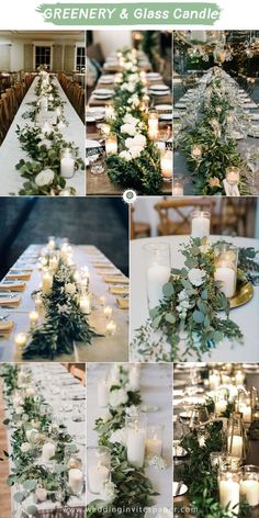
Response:
POLYGON ((221 214, 214 214, 215 201, 211 198, 187 198, 182 200, 165 199, 156 203, 155 210, 158 212, 159 221, 158 235, 184 235, 191 233, 191 213, 196 210, 211 212, 212 232, 219 228, 221 214), (174 216, 173 217, 173 214, 174 216))

